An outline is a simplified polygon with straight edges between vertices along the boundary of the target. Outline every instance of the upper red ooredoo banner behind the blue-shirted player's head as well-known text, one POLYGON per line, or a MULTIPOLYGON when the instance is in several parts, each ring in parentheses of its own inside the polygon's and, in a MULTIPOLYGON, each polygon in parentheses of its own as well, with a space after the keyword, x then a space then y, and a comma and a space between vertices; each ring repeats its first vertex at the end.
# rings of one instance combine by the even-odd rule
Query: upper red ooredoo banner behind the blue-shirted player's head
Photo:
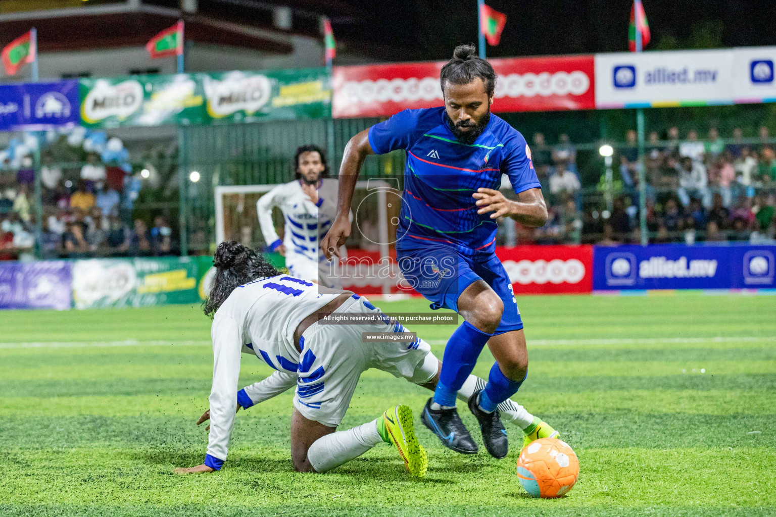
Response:
MULTIPOLYGON (((334 118, 390 116, 442 105, 446 61, 334 67, 334 118)), ((490 60, 497 74, 494 112, 594 109, 593 56, 490 60)))

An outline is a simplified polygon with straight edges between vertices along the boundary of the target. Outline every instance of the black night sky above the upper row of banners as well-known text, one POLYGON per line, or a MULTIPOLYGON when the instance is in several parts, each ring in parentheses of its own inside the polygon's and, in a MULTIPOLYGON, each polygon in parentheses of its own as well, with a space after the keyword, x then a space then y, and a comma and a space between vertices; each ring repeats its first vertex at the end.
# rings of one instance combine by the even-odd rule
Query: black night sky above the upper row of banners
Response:
MULTIPOLYGON (((334 15, 338 39, 358 42, 369 54, 386 60, 449 59, 457 44, 477 40, 476 0, 337 0, 337 4, 354 9, 353 16, 334 15)), ((488 57, 628 50, 630 0, 487 4, 507 15, 501 44, 488 47, 488 57)), ((652 31, 645 50, 776 44, 773 1, 643 0, 643 5, 652 31)))

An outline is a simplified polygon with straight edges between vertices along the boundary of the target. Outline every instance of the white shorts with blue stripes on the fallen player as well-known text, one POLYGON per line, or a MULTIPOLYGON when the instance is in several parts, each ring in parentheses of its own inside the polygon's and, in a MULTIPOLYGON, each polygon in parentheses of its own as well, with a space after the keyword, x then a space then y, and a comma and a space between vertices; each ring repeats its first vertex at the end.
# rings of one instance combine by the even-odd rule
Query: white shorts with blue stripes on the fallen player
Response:
MULTIPOLYGON (((382 314, 358 295, 353 295, 334 314, 339 312, 382 314)), ((394 322, 367 325, 316 322, 304 331, 293 405, 305 418, 324 426, 339 426, 348 411, 359 377, 369 368, 404 377, 415 384, 424 384, 437 373, 438 360, 423 339, 417 338, 412 343, 365 343, 362 339, 365 332, 408 331, 394 322)))

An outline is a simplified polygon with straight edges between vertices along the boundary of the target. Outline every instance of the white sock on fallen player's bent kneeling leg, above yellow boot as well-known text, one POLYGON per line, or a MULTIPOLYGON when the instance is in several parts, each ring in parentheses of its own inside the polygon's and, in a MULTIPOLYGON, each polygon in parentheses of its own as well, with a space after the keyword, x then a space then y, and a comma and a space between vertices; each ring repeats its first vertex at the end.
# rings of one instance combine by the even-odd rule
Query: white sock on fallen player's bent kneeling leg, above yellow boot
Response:
POLYGON ((372 420, 315 440, 307 450, 307 460, 316 472, 326 472, 361 456, 382 441, 377 432, 377 420, 372 420))

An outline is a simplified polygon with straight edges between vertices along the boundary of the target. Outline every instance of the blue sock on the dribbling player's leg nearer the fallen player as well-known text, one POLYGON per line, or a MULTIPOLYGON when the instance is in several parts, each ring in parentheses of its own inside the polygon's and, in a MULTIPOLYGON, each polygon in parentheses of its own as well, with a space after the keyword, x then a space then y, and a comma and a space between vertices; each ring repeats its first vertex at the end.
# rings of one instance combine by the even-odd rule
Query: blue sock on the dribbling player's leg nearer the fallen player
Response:
POLYGON ((484 333, 469 322, 452 333, 442 356, 442 372, 434 391, 434 402, 438 405, 455 406, 456 393, 472 373, 477 357, 493 334, 484 333))

